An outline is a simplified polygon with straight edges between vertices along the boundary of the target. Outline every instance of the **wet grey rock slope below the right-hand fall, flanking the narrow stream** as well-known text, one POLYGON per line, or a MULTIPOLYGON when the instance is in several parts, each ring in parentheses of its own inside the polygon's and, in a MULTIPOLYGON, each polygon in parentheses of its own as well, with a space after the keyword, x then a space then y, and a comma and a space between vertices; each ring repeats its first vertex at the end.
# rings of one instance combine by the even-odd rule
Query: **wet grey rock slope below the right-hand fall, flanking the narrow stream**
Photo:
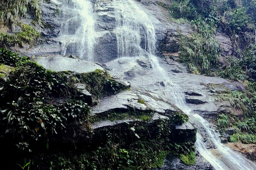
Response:
MULTIPOLYGON (((120 58, 105 63, 105 66, 110 70, 110 74, 113 77, 129 81, 132 86, 146 87, 151 92, 163 97, 168 94, 171 95, 172 88, 178 88, 175 89, 175 91, 178 91, 176 95, 182 96, 184 100, 187 100, 192 112, 206 117, 209 120, 211 120, 212 117, 217 117, 220 112, 233 112, 230 103, 219 101, 217 95, 227 90, 244 89, 244 86, 239 82, 189 74, 182 64, 159 59, 160 66, 167 73, 167 75, 165 75, 163 72, 157 70, 156 67, 154 69, 148 69, 148 67, 145 68, 136 62, 138 60, 147 61, 143 58, 145 58, 145 56, 120 58), (173 72, 173 68, 178 72, 173 72), (141 76, 143 76, 143 78, 141 78, 141 76), (173 85, 166 81, 166 79, 177 84, 177 87, 172 87, 173 85), (165 94, 162 94, 161 91, 164 91, 165 94)), ((152 63, 150 60, 148 62, 149 64, 152 63)), ((172 97, 168 98, 168 100, 170 100, 170 103, 176 102, 175 98, 172 97)), ((214 120, 214 118, 212 118, 212 120, 214 120)))

